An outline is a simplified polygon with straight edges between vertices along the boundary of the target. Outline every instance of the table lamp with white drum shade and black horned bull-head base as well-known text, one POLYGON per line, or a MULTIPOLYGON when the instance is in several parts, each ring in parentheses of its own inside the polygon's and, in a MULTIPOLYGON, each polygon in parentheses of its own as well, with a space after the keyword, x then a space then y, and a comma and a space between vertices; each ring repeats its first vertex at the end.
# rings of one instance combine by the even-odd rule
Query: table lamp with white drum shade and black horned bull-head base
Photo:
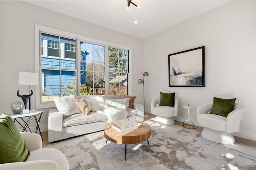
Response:
POLYGON ((30 90, 30 85, 37 85, 38 84, 38 73, 34 72, 19 72, 19 80, 18 84, 20 85, 28 85, 28 95, 20 95, 19 90, 17 92, 17 96, 22 98, 25 109, 27 109, 27 103, 29 100, 29 110, 31 111, 31 102, 30 102, 30 97, 32 96, 33 92, 30 90), (30 93, 31 91, 31 93, 30 93))

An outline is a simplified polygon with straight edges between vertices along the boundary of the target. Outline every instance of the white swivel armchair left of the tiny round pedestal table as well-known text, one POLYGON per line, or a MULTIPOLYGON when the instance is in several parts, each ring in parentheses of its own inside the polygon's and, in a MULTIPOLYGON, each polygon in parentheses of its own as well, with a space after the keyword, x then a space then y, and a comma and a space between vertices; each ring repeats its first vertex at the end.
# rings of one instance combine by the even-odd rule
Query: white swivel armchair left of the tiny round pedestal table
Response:
POLYGON ((174 99, 174 107, 170 106, 159 106, 160 96, 156 97, 151 102, 151 113, 156 115, 156 123, 161 125, 174 125, 174 116, 178 115, 178 98, 174 99))

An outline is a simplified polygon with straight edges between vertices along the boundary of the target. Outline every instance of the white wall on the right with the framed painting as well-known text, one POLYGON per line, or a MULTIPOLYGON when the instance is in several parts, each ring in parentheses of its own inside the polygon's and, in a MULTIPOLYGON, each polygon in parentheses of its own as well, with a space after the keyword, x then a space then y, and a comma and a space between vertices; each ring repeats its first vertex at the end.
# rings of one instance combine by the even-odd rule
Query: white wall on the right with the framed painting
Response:
MULTIPOLYGON (((168 21, 167 21, 168 22, 168 21)), ((143 42, 145 107, 160 92, 176 92, 179 121, 187 119, 187 103, 200 106, 213 96, 234 97, 244 104, 236 136, 256 141, 256 1, 228 2, 149 37, 143 42), (205 46, 206 87, 168 87, 168 54, 205 46)), ((196 121, 196 109, 190 110, 196 121)))

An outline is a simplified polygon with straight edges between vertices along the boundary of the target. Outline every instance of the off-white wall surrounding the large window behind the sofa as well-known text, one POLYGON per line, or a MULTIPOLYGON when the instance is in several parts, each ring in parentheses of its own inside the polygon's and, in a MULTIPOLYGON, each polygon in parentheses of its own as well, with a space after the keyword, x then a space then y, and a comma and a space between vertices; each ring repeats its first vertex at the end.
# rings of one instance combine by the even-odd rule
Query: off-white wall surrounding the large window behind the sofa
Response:
MULTIPOLYGON (((133 48, 132 95, 138 96, 135 102, 143 101, 142 86, 137 80, 142 72, 142 39, 125 35, 91 23, 77 20, 21 1, 0 1, 0 114, 12 114, 10 104, 21 101, 16 95, 27 94, 27 86, 18 85, 18 72, 35 71, 34 25, 43 25, 92 37, 133 48)), ((35 86, 31 89, 35 92, 35 86)), ((35 95, 32 96, 32 109, 35 108, 35 95)), ((40 128, 47 130, 48 109, 43 110, 40 128)), ((35 126, 32 124, 32 127, 35 126)))

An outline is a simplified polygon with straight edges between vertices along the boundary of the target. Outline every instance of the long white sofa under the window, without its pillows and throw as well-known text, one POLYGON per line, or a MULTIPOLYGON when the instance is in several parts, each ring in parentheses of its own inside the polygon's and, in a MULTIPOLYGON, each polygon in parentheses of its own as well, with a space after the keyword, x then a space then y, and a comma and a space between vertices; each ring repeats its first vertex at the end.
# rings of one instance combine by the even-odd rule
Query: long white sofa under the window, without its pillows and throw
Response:
MULTIPOLYGON (((78 96, 78 98, 85 99, 90 97, 91 96, 78 96)), ((103 96, 103 98, 105 107, 109 107, 109 99, 120 99, 121 94, 103 96)), ((134 103, 133 106, 134 109, 129 108, 127 110, 127 116, 129 117, 131 112, 133 112, 138 121, 143 121, 143 105, 134 103)), ((78 135, 102 131, 108 122, 110 122, 108 117, 97 111, 91 111, 87 115, 84 113, 76 113, 65 116, 60 113, 58 109, 50 109, 48 115, 48 141, 60 141, 78 135)))

